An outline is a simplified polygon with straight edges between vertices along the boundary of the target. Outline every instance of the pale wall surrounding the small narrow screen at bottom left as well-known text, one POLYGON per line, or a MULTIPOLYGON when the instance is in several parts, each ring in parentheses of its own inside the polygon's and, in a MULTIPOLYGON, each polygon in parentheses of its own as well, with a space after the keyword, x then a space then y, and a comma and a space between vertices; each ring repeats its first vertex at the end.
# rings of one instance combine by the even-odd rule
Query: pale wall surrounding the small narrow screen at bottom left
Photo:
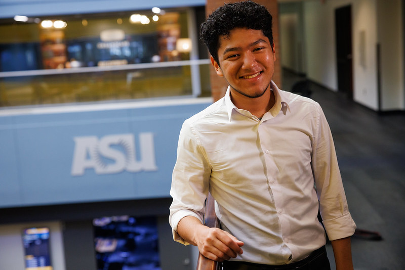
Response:
POLYGON ((60 222, 18 223, 0 226, 0 269, 24 270, 22 232, 30 227, 50 229, 51 262, 54 270, 65 270, 62 224, 60 222))

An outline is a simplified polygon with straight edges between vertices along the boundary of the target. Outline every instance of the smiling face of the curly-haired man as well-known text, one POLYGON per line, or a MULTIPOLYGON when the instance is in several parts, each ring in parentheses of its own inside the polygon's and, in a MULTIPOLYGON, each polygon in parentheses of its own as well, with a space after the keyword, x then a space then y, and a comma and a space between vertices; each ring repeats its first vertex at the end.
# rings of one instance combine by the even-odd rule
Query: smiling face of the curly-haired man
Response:
POLYGON ((211 57, 217 74, 231 87, 231 95, 261 97, 274 73, 275 51, 261 30, 235 28, 220 36, 219 65, 211 57))

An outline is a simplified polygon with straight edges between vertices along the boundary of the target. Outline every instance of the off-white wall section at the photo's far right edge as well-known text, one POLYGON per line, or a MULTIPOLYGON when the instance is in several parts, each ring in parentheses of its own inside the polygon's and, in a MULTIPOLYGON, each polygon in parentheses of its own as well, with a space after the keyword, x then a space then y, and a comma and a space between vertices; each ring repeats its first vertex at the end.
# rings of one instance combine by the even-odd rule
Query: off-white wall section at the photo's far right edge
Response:
POLYGON ((378 0, 378 42, 381 54, 381 109, 404 108, 403 31, 400 0, 378 0))

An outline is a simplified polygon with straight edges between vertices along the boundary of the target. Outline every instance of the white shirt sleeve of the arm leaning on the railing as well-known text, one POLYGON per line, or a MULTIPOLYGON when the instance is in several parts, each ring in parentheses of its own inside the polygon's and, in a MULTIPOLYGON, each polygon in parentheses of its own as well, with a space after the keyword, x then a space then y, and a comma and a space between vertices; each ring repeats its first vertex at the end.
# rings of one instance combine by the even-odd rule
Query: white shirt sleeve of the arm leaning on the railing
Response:
POLYGON ((173 169, 170 190, 173 202, 169 215, 173 239, 184 245, 189 243, 177 234, 178 223, 185 216, 195 216, 203 223, 210 174, 211 167, 204 148, 200 146, 195 130, 186 120, 180 130, 177 160, 173 169))

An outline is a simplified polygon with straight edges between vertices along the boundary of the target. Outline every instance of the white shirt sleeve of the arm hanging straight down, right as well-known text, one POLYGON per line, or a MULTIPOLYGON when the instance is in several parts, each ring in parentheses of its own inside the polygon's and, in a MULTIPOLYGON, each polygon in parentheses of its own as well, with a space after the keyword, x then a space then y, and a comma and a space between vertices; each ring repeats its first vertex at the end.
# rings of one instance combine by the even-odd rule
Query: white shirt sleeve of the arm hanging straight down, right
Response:
POLYGON ((323 225, 330 240, 349 237, 356 225, 350 215, 336 157, 332 133, 318 107, 312 167, 323 225))

